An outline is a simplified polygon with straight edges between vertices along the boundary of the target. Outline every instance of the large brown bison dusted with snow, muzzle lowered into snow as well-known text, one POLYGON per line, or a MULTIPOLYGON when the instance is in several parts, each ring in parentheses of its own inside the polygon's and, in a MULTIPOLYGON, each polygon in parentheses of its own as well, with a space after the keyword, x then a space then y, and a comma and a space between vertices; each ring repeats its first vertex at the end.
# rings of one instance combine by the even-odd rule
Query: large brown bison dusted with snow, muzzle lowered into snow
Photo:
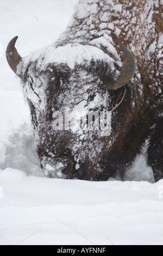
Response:
POLYGON ((46 176, 105 181, 119 171, 123 179, 146 143, 155 181, 163 178, 162 31, 162 0, 79 0, 52 46, 22 58, 17 36, 10 41, 7 60, 21 78, 46 176), (71 130, 65 109, 112 112, 111 133, 71 130), (54 129, 59 120, 65 129, 54 129))

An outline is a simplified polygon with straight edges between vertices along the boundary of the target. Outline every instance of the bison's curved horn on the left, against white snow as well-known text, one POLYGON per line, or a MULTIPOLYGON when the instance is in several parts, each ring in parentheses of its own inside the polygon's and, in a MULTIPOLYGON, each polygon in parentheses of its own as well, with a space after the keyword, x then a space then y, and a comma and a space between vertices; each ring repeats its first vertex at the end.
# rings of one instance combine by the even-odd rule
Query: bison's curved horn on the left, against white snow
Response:
POLYGON ((22 79, 22 76, 17 74, 17 65, 21 62, 22 57, 20 56, 20 54, 18 54, 16 48, 15 48, 15 43, 18 39, 18 36, 15 36, 15 38, 13 38, 7 47, 6 50, 6 57, 7 57, 7 61, 9 63, 10 68, 14 71, 14 73, 20 77, 22 79))

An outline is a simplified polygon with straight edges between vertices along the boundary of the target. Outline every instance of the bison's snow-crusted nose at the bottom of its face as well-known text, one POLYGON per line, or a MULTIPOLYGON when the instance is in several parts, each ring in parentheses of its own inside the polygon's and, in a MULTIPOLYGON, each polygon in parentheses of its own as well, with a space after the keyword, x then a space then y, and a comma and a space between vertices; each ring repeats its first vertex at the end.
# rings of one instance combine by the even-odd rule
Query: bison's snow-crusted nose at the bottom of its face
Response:
POLYGON ((76 162, 71 157, 58 156, 54 159, 43 159, 41 166, 43 173, 49 178, 71 179, 76 162))

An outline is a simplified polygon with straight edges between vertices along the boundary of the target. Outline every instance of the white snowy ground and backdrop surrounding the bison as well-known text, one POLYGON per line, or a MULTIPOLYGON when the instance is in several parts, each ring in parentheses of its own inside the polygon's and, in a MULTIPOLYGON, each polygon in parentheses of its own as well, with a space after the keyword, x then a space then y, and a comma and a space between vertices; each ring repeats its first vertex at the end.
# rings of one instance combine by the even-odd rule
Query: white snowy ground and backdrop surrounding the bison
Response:
POLYGON ((22 56, 52 44, 75 2, 0 0, 0 245, 163 245, 163 180, 153 184, 145 156, 126 182, 41 172, 29 109, 4 52, 16 35, 22 56))

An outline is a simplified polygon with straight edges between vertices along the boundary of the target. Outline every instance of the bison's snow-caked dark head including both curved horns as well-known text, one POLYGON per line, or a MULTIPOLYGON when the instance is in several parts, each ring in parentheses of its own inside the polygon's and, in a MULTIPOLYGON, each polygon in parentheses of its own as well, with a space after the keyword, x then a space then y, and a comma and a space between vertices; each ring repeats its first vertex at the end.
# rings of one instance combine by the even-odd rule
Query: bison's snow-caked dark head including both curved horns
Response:
MULTIPOLYGON (((73 130, 69 125, 65 129, 65 111, 73 115, 109 111, 111 95, 135 74, 133 55, 120 44, 125 56, 122 65, 95 46, 67 44, 48 46, 21 58, 16 40, 17 36, 7 47, 7 60, 22 81, 43 172, 51 178, 98 180, 102 172, 99 161, 109 154, 116 135, 104 137, 100 131, 73 130), (64 129, 54 129, 56 118, 64 129)), ((68 118, 72 124, 74 116, 68 118)))

